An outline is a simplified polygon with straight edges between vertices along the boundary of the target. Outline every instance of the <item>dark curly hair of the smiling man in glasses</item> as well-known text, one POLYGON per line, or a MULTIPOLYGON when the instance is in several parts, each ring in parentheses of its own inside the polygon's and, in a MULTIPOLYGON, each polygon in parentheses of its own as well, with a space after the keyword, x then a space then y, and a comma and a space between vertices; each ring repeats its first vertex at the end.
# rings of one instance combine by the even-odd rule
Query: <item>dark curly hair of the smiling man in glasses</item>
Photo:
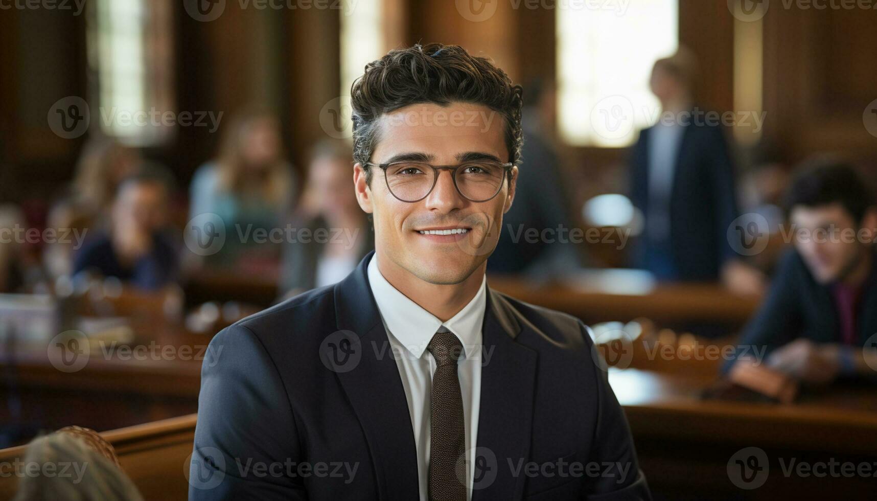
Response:
POLYGON ((517 165, 524 142, 521 92, 502 69, 460 46, 417 44, 392 50, 368 63, 353 82, 353 160, 363 164, 370 183, 372 172, 365 164, 377 145, 381 115, 410 104, 447 106, 460 101, 487 106, 503 116, 509 161, 517 165))

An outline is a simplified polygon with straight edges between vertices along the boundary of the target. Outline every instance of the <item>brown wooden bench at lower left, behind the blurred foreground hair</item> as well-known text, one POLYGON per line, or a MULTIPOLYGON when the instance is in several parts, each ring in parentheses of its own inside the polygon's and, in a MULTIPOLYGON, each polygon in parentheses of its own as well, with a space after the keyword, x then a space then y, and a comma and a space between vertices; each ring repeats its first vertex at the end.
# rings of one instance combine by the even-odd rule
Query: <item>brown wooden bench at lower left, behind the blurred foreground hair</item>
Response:
MULTIPOLYGON (((174 501, 189 497, 189 455, 195 441, 196 414, 162 419, 101 433, 144 499, 174 501)), ((26 446, 0 450, 0 463, 24 460, 26 446)), ((0 476, 0 499, 11 499, 17 476, 0 476)))

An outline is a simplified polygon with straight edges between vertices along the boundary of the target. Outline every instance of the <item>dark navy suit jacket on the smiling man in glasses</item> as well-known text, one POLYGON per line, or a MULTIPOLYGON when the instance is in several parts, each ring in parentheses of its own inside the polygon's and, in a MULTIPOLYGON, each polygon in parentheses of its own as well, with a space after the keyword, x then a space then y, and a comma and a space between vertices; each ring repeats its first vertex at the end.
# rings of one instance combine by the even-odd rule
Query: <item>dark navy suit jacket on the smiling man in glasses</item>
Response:
MULTIPOLYGON (((368 285, 373 255, 210 342, 190 499, 417 499, 409 408, 368 285)), ((651 499, 580 320, 488 288, 482 332, 474 501, 651 499)))

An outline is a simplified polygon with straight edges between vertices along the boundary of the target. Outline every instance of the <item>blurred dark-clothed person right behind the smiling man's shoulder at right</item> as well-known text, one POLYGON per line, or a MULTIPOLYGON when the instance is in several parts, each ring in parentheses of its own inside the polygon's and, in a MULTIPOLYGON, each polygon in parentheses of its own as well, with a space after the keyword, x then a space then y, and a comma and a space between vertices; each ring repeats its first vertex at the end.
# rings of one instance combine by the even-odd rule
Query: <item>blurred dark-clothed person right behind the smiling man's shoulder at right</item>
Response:
MULTIPOLYGON (((503 216, 503 230, 490 255, 488 273, 553 275, 581 267, 581 250, 559 241, 559 229, 572 227, 560 158, 553 144, 557 128, 557 93, 553 81, 534 80, 524 87, 524 146, 515 204, 503 216), (526 237, 536 229, 553 233, 553 241, 526 237)), ((568 234, 568 233, 567 233, 568 234)))

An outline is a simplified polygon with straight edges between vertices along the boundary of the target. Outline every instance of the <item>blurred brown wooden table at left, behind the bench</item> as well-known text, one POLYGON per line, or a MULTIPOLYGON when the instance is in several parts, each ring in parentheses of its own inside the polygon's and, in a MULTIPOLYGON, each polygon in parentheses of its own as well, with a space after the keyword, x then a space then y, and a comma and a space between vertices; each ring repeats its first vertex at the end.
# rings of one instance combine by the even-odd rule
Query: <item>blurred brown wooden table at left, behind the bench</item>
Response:
POLYGON ((103 431, 196 412, 212 335, 161 324, 140 332, 125 345, 139 351, 117 347, 106 356, 104 345, 74 372, 56 368, 45 346, 0 347, 0 423, 18 436, 11 442, 68 425, 103 431))

